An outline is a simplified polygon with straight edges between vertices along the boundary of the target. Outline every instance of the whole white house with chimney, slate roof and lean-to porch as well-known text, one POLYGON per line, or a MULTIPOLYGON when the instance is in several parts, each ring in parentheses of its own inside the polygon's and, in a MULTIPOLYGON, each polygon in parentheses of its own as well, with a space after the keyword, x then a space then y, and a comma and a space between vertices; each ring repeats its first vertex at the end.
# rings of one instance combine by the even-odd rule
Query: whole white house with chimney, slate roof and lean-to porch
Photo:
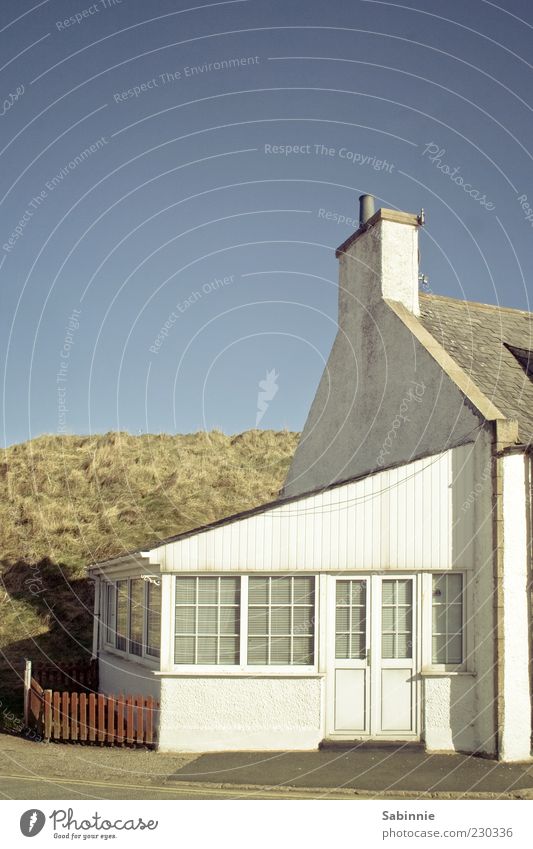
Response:
POLYGON ((530 758, 533 315, 420 292, 423 216, 371 205, 278 500, 90 568, 161 750, 530 758))

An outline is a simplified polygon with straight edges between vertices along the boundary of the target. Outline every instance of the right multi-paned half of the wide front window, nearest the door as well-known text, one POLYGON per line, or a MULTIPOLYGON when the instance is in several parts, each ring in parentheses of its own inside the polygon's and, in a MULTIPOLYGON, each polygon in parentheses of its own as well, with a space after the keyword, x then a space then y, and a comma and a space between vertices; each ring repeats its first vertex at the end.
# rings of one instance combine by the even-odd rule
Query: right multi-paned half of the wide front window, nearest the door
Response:
POLYGON ((248 663, 311 665, 314 605, 313 578, 250 578, 248 663))

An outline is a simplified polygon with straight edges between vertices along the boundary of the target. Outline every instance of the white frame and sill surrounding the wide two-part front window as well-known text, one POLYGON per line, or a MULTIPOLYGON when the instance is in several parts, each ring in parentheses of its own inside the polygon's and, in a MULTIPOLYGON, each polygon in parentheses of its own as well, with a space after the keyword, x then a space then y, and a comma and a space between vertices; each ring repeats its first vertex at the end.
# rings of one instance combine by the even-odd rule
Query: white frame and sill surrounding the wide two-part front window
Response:
MULTIPOLYGON (((171 599, 167 606, 167 610, 171 611, 170 615, 170 623, 168 627, 167 634, 169 636, 169 646, 168 652, 166 653, 166 662, 164 658, 163 646, 161 648, 161 659, 162 659, 162 669, 163 664, 166 669, 165 672, 170 672, 183 676, 215 676, 221 677, 226 675, 235 675, 235 676, 267 676, 269 678, 275 677, 305 677, 307 675, 315 675, 318 674, 318 666, 319 666, 319 657, 318 657, 318 649, 319 649, 319 632, 320 632, 320 623, 318 621, 318 609, 319 609, 319 589, 320 582, 318 580, 319 576, 315 572, 251 572, 251 573, 239 573, 238 575, 232 572, 182 572, 179 574, 173 574, 172 582, 170 587, 170 595, 171 599), (261 664, 250 664, 248 665, 248 579, 251 577, 261 577, 261 578, 313 578, 314 580, 314 604, 313 604, 313 663, 311 665, 304 664, 271 664, 271 665, 261 665, 261 664), (179 578, 240 578, 241 587, 240 587, 240 635, 239 635, 239 663, 235 664, 189 664, 189 663, 175 663, 174 662, 174 645, 175 645, 175 599, 176 599, 176 580, 179 578)), ((163 607, 162 607, 162 616, 164 616, 164 594, 163 594, 163 607)), ((166 626, 164 626, 166 627, 166 626)))

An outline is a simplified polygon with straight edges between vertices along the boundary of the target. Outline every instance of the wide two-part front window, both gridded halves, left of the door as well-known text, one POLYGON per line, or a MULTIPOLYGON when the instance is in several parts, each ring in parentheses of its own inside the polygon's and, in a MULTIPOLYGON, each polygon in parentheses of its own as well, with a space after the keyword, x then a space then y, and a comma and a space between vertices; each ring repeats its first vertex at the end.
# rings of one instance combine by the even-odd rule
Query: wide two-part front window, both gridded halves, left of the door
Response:
POLYGON ((312 666, 314 577, 176 577, 174 663, 312 666))

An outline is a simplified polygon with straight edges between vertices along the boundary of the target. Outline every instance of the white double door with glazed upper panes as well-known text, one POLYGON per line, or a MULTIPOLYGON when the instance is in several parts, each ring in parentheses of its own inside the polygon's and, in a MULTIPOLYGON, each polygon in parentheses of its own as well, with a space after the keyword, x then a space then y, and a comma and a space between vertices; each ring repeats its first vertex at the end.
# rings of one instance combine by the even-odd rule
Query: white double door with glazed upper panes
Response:
POLYGON ((328 736, 417 739, 416 576, 330 581, 328 736))

